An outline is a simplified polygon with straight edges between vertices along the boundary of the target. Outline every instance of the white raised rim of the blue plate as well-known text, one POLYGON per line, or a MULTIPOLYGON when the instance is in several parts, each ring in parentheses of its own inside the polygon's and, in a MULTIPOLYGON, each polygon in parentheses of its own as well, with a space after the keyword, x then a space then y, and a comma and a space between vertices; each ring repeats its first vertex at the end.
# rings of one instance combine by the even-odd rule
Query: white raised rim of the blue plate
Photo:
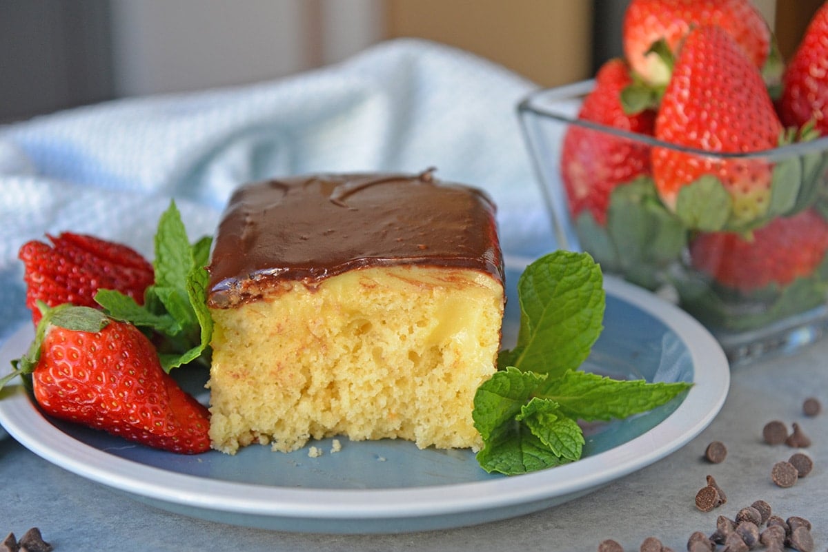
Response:
MULTIPOLYGON (((514 266, 524 259, 507 262, 514 266)), ((2 392, 10 396, 0 401, 0 424, 31 452, 81 477, 137 497, 234 515, 381 521, 468 514, 585 493, 686 445, 718 415, 730 383, 724 351, 689 314, 612 276, 604 276, 604 289, 608 295, 657 318, 680 337, 691 354, 694 386, 681 405, 649 431, 610 450, 553 469, 412 488, 286 488, 218 481, 156 468, 85 445, 42 416, 19 384, 2 392), (633 451, 635 454, 631 454, 633 451), (209 485, 205 485, 205 479, 209 485)), ((20 340, 26 342, 26 334, 31 333, 30 326, 22 326, 0 347, 0 356, 19 354, 8 349, 20 340)))

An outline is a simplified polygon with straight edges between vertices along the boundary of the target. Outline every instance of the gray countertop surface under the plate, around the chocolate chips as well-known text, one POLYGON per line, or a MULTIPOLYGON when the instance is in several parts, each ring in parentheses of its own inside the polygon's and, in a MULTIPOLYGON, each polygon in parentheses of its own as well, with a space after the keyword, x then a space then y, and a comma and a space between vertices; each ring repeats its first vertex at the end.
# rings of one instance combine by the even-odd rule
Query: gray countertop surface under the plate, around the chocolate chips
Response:
MULTIPOLYGON (((656 464, 604 488, 542 512, 446 531, 395 535, 318 535, 253 530, 171 514, 89 482, 32 454, 14 440, 0 440, 0 532, 18 537, 38 526, 55 552, 71 550, 597 550, 604 539, 638 550, 656 536, 686 550, 693 531, 710 534, 719 515, 734 518, 757 499, 779 516, 813 524, 815 550, 828 547, 828 340, 798 355, 733 369, 727 401, 696 439, 656 464), (821 415, 807 418, 802 401, 818 397, 821 415), (773 419, 797 421, 813 444, 804 450, 814 469, 792 488, 779 488, 771 468, 795 451, 763 443, 773 419), (720 440, 722 464, 703 459, 720 440), (696 492, 713 475, 728 502, 712 512, 695 506, 696 492)), ((721 550, 721 547, 720 547, 721 550)))

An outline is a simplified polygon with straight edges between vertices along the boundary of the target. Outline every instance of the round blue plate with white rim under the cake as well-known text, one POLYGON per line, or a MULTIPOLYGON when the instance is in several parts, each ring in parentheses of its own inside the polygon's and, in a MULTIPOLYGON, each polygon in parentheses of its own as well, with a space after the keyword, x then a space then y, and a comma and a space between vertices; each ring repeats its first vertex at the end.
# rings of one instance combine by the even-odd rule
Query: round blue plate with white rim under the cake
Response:
MULTIPOLYGON (((519 315, 514 285, 524 264, 508 264, 504 343, 519 315)), ((604 332, 585 369, 615 378, 694 383, 652 412, 585 427, 584 457, 506 478, 479 468, 469 450, 418 450, 402 440, 311 443, 291 454, 248 446, 229 456, 152 450, 44 416, 22 386, 2 392, 0 424, 22 445, 74 473, 171 512, 281 531, 424 531, 518 516, 590 493, 641 469, 698 435, 719 412, 729 368, 715 339, 676 307, 608 278, 604 332)), ((31 329, 0 350, 22 354, 31 329)), ((7 364, 6 364, 7 365, 7 364)), ((184 371, 182 371, 184 373, 184 371)), ((182 382, 206 401, 206 373, 182 382)))

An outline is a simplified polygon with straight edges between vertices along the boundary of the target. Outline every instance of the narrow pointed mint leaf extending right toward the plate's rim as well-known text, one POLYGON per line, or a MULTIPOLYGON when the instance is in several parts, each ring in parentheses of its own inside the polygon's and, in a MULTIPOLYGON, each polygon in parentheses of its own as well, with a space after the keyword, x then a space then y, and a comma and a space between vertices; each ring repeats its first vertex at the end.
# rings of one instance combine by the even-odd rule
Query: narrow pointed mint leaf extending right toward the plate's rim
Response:
POLYGON ((595 421, 647 412, 690 387, 685 382, 647 383, 572 370, 560 378, 547 379, 537 395, 556 402, 566 416, 595 421))

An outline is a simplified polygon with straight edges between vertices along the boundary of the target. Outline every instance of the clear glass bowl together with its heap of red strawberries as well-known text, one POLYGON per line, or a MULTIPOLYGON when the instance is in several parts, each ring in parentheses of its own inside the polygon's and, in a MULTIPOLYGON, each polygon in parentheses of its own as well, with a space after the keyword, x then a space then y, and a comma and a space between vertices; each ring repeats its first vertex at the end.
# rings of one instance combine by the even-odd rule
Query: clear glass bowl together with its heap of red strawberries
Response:
POLYGON ((750 0, 632 0, 623 57, 518 106, 557 246, 668 293, 732 364, 828 329, 828 2, 783 60, 750 0))

